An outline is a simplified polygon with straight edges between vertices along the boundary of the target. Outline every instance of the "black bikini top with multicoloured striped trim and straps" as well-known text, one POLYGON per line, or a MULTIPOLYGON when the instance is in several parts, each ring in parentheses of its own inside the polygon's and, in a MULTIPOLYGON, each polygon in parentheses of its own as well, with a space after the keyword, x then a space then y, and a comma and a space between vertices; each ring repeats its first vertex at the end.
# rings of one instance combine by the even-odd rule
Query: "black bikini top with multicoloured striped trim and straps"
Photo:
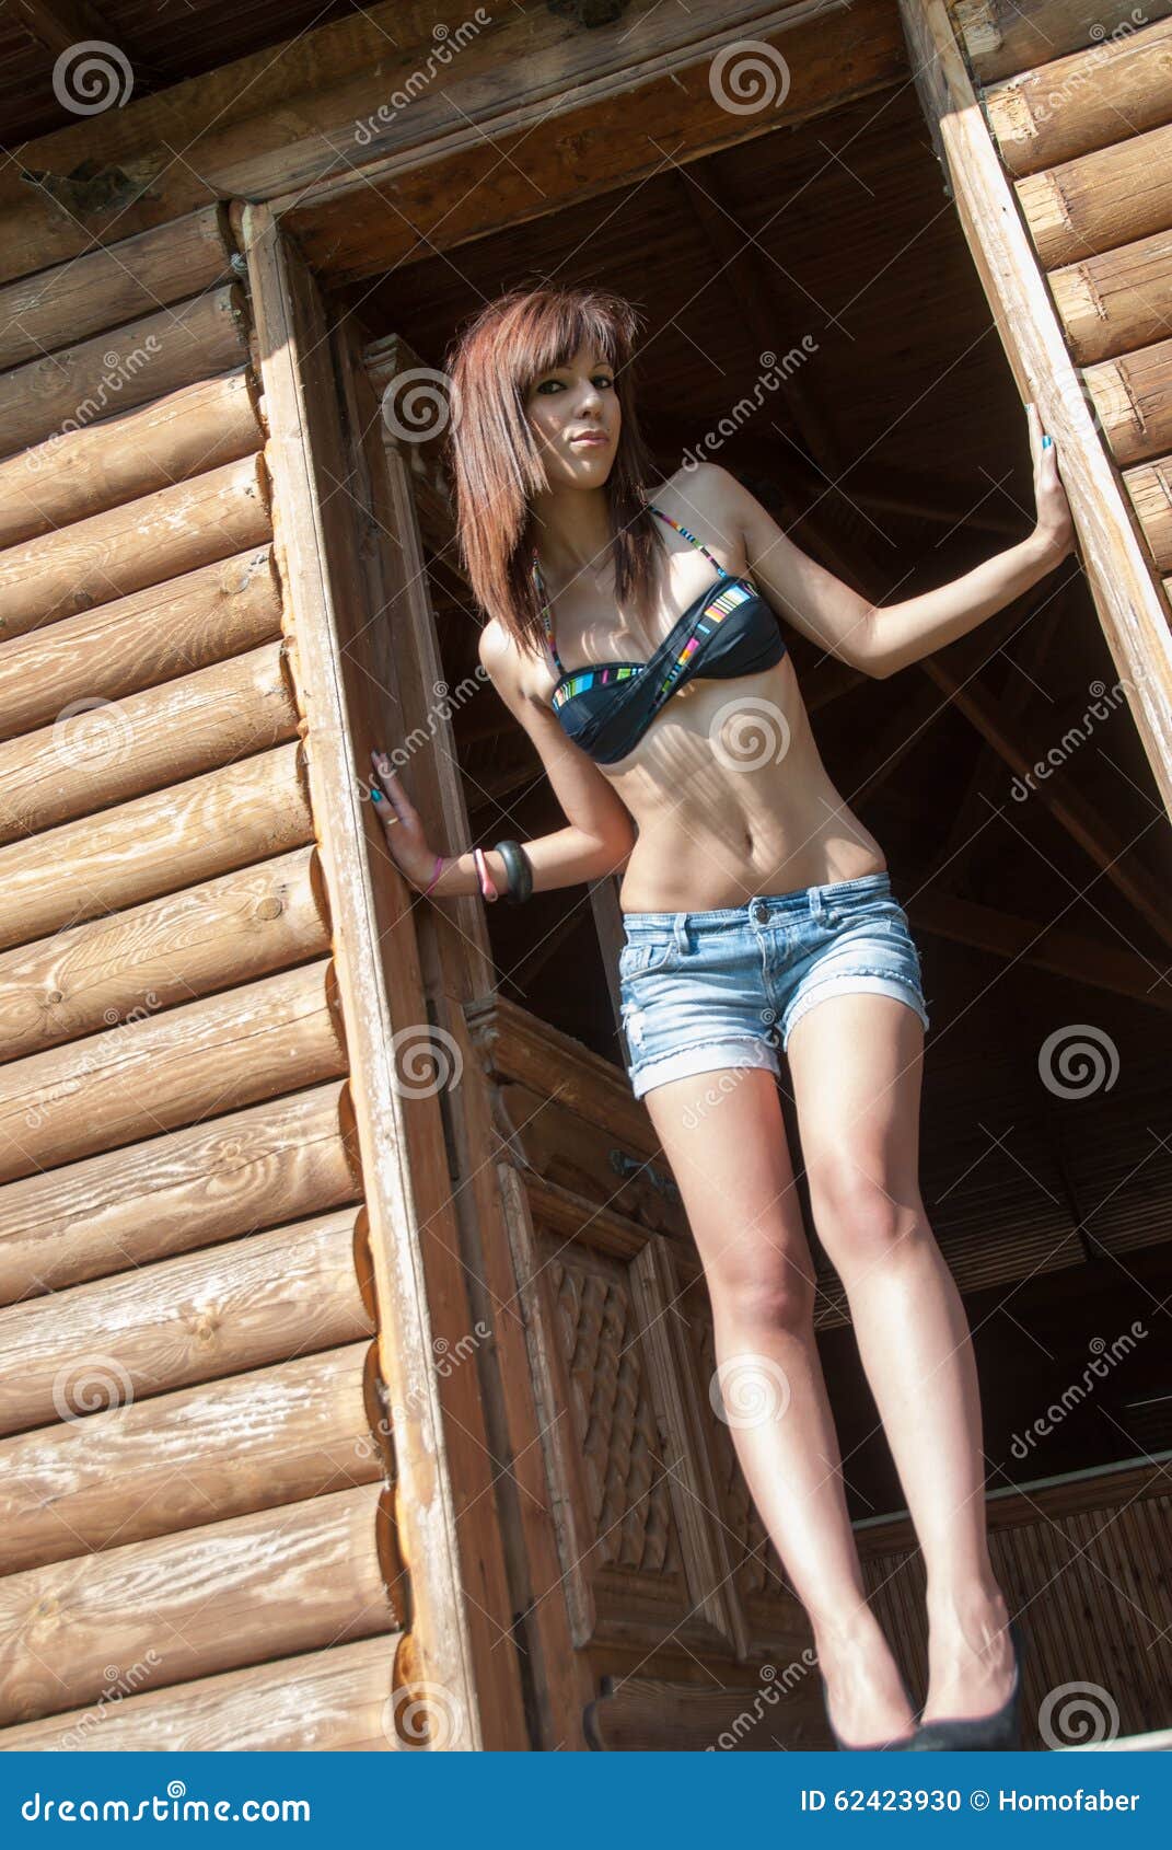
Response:
POLYGON ((562 731, 597 764, 616 764, 636 747, 660 707, 691 679, 732 681, 762 673, 786 653, 771 605, 751 579, 732 577, 719 559, 671 514, 647 503, 653 514, 682 533, 712 561, 719 577, 684 610, 649 662, 595 662, 566 670, 553 640, 553 612, 538 549, 532 549, 545 640, 558 668, 553 710, 562 731))

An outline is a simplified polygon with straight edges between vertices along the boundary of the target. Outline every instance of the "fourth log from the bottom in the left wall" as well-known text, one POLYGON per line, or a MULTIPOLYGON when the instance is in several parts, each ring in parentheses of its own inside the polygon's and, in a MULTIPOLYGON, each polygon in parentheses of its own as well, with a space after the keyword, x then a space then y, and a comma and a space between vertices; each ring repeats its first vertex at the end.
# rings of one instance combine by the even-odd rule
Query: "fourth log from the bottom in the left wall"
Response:
POLYGON ((359 1212, 7 1304, 0 1432, 63 1423, 85 1452, 79 1424, 92 1413, 372 1336, 355 1271, 359 1212))

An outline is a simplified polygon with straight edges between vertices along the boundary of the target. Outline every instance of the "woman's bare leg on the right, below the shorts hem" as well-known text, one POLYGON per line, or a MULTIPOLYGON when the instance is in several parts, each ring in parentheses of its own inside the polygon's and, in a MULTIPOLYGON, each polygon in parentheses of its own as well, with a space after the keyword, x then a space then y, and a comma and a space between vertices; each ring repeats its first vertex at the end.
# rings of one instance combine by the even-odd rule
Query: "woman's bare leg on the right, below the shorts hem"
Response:
POLYGON ((802 1162, 928 1571, 928 1700, 983 1715, 1013 1682, 985 1539, 976 1363, 919 1191, 924 1030, 887 995, 834 995, 789 1036, 802 1162))

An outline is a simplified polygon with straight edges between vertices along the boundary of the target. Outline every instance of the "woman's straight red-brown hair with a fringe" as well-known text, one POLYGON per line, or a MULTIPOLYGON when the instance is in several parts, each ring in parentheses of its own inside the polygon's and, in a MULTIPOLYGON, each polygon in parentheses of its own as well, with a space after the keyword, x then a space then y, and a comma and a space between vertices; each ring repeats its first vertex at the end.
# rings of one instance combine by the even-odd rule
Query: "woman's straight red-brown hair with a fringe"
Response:
POLYGON ((651 614, 654 551, 664 546, 645 492, 654 462, 634 411, 632 352, 638 313, 601 289, 514 289, 479 311, 447 357, 453 420, 447 457, 457 492, 457 544, 477 601, 523 648, 542 651, 543 623, 532 583, 531 498, 549 488, 525 398, 542 374, 582 346, 614 372, 619 440, 606 477, 616 535, 616 594, 651 614))

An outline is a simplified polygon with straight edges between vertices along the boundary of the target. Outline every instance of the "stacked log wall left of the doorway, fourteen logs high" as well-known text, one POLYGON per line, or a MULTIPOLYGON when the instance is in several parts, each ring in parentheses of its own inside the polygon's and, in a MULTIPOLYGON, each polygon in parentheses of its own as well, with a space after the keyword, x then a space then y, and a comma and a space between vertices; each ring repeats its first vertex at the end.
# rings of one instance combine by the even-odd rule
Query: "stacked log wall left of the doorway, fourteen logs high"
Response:
POLYGON ((0 1748, 401 1743, 312 733, 226 207, 0 290, 0 1748))

